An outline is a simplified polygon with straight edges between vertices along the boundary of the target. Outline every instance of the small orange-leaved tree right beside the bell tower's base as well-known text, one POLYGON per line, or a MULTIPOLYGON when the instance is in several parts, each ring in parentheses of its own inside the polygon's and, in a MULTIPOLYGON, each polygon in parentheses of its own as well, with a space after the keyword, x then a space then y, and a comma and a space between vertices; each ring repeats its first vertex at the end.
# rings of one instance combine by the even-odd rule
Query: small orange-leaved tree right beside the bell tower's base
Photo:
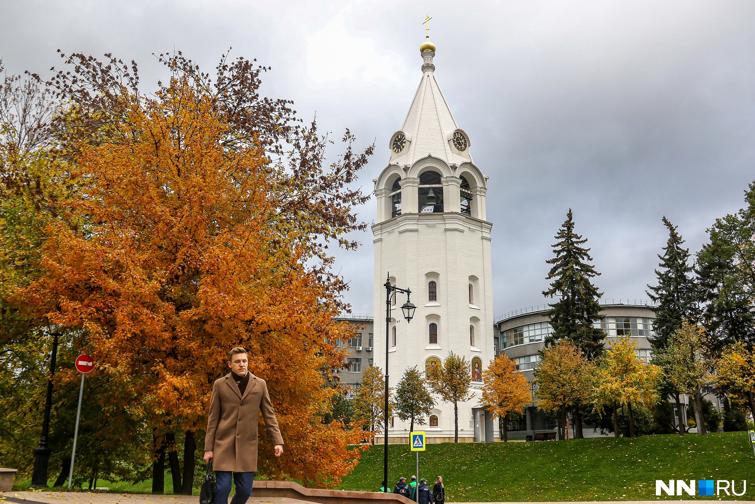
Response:
POLYGON ((516 369, 516 363, 504 354, 490 361, 482 371, 482 400, 492 418, 501 418, 504 423, 504 441, 509 441, 509 413, 524 413, 523 408, 532 402, 532 388, 524 373, 516 369))

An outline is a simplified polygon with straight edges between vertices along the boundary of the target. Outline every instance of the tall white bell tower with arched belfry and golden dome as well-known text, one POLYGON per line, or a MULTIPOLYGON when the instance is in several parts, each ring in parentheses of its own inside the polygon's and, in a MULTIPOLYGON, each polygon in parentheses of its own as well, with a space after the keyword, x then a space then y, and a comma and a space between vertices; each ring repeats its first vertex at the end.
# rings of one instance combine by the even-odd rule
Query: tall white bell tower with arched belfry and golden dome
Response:
MULTIPOLYGON (((450 351, 467 357, 475 397, 459 404, 459 442, 493 441, 498 428, 485 425, 484 412, 475 410, 479 371, 495 357, 487 181, 472 160, 469 136, 456 125, 436 82, 435 49, 428 36, 420 47, 420 85, 402 128, 390 138, 388 164, 374 180, 374 361, 386 372, 384 283, 390 275, 393 285, 411 289, 417 305, 414 319, 406 323, 401 312, 405 295, 396 294, 393 301, 390 387, 396 388, 408 367, 418 366, 424 373, 450 351)), ((414 428, 426 431, 430 442, 454 441, 453 404, 436 398, 428 425, 414 428)), ((408 429, 409 422, 394 419, 389 441, 408 442, 408 429)))

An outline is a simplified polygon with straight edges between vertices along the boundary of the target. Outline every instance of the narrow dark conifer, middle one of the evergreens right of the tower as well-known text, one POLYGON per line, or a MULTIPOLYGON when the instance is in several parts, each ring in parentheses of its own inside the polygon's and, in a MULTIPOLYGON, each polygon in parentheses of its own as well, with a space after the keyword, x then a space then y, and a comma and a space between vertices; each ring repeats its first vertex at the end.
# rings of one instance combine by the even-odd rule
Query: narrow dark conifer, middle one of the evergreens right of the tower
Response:
POLYGON ((670 335, 682 328, 684 320, 696 320, 698 310, 698 292, 695 288, 694 272, 689 264, 689 249, 683 249, 684 240, 676 232, 676 226, 664 216, 664 225, 668 228, 668 240, 664 254, 658 255, 661 270, 655 270, 658 286, 650 286, 650 298, 658 303, 655 311, 653 330, 655 337, 651 344, 656 351, 665 348, 670 335))

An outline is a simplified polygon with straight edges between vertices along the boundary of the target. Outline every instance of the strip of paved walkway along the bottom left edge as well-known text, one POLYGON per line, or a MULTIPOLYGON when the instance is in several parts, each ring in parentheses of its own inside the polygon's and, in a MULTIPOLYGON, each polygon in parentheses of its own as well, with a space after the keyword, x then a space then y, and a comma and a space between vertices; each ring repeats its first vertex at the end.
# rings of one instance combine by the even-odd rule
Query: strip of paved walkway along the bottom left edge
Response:
MULTIPOLYGON (((198 495, 146 495, 143 493, 0 492, 0 504, 199 504, 198 495)), ((287 497, 250 497, 248 504, 303 504, 287 497)), ((310 504, 310 503, 307 503, 310 504)))

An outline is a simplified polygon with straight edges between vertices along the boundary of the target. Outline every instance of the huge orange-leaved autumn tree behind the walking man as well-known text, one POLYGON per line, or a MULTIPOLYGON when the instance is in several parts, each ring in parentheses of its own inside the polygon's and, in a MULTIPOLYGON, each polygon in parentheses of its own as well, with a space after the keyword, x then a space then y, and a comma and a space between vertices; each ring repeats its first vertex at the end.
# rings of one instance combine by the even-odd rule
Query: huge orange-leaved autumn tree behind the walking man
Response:
POLYGON ((48 227, 48 274, 23 301, 83 329, 82 351, 118 383, 101 400, 128 402, 154 433, 157 478, 167 452, 174 485, 190 492, 194 453, 177 481, 174 438, 201 441, 212 383, 242 345, 286 443, 276 459, 260 440, 258 473, 338 484, 361 432, 323 422, 344 366, 333 342, 352 330, 333 319, 346 286, 327 245, 356 246, 342 236, 365 228, 352 208, 368 196, 348 184, 372 147, 354 153, 347 131, 346 152, 325 166, 327 139, 297 124, 290 102, 260 97, 266 69, 243 58, 223 57, 213 80, 180 53, 161 55, 171 77, 147 97, 136 63, 106 56, 64 56, 73 71, 51 82, 71 104, 57 128, 88 180, 70 202, 86 224, 48 227))

